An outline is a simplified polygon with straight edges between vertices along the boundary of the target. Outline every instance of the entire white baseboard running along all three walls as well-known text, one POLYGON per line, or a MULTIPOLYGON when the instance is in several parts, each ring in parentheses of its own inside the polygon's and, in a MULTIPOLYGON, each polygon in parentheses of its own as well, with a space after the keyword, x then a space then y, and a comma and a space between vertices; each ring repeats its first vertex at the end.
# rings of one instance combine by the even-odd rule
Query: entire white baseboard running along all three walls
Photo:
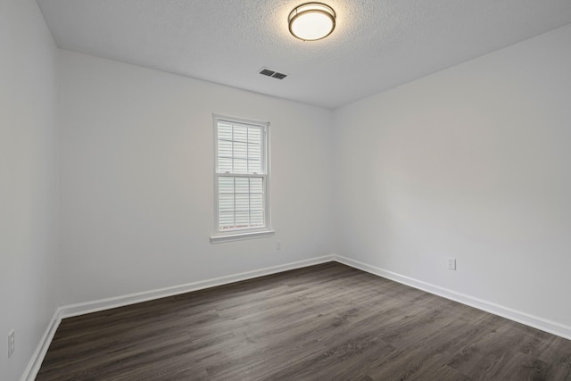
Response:
POLYGON ((291 263, 286 263, 284 265, 273 266, 265 269, 257 269, 253 271, 247 271, 235 275, 230 275, 227 277, 215 277, 212 279, 207 279, 203 281, 188 283, 186 285, 172 286, 166 288, 160 288, 156 290, 145 291, 137 294, 128 294, 117 296, 113 298, 100 299, 93 302, 83 302, 78 304, 70 304, 67 306, 62 306, 57 309, 54 313, 54 317, 50 321, 49 326, 46 328, 46 333, 42 336, 40 343, 37 345, 37 349, 34 352, 32 359, 29 360, 28 367, 24 371, 21 377, 22 381, 32 381, 36 378, 37 372, 42 365, 42 361, 46 356, 47 349, 54 338, 55 330, 59 327, 60 322, 64 318, 70 318, 73 316, 84 315, 86 313, 109 310, 116 307, 122 307, 129 304, 134 304, 137 302, 146 302, 153 299, 164 298, 167 296, 185 294, 192 291, 202 290, 204 288, 228 285, 229 283, 239 282, 242 280, 252 279, 254 277, 263 277, 270 274, 275 274, 277 272, 287 271, 290 269, 300 269, 319 263, 325 263, 328 261, 337 261, 343 263, 344 265, 351 266, 355 269, 361 269, 367 271, 368 273, 377 275, 379 277, 385 277, 391 279, 395 282, 401 283, 403 285, 418 288, 419 290, 426 291, 430 294, 435 294, 442 296, 446 299, 450 299, 455 302, 460 302, 462 304, 467 304, 478 310, 493 313, 494 315, 501 316, 502 318, 517 321, 518 323, 525 324, 526 326, 541 329, 542 331, 549 332, 553 335, 559 335, 563 338, 571 340, 571 327, 559 324, 548 319, 542 319, 525 312, 516 311, 508 307, 501 306, 492 302, 487 302, 482 299, 478 299, 466 294, 460 294, 455 291, 443 288, 440 286, 434 286, 429 283, 423 282, 421 280, 413 279, 411 277, 405 277, 400 274, 394 273, 393 271, 388 271, 386 269, 380 269, 375 266, 363 263, 360 261, 355 261, 350 258, 343 257, 341 255, 325 255, 318 258, 313 258, 310 260, 296 261, 291 263))

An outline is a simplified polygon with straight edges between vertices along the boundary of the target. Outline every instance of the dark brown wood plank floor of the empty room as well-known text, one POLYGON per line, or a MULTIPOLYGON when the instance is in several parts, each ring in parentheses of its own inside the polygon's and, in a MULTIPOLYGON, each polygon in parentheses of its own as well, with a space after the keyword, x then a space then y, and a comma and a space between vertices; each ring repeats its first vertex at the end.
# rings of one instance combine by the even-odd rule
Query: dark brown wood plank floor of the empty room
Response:
POLYGON ((338 263, 63 319, 37 380, 571 380, 571 341, 338 263))

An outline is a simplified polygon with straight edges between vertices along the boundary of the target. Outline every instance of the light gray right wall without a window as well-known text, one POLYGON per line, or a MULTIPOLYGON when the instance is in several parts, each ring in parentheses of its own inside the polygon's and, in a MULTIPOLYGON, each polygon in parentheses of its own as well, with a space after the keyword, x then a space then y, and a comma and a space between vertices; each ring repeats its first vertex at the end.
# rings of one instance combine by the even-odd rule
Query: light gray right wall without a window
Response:
POLYGON ((556 29, 336 110, 338 253, 571 335, 570 43, 556 29))

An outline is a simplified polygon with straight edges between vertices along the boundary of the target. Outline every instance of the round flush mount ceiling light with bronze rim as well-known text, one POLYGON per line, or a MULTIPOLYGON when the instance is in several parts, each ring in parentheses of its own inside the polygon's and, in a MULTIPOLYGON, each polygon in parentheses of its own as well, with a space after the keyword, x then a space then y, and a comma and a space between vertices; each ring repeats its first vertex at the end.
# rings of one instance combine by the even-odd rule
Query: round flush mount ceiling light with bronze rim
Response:
POLYGON ((287 21, 294 37, 315 41, 329 36, 335 29, 335 11, 326 4, 302 4, 289 14, 287 21))

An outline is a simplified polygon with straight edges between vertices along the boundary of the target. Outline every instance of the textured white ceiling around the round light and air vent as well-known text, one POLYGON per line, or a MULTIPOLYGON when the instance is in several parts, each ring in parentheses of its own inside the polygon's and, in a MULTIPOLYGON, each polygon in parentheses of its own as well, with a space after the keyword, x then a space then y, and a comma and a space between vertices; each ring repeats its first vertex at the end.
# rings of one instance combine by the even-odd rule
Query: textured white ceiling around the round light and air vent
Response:
POLYGON ((314 42, 287 29, 304 0, 37 3, 63 49, 327 108, 571 23, 571 0, 321 1, 337 25, 314 42))

